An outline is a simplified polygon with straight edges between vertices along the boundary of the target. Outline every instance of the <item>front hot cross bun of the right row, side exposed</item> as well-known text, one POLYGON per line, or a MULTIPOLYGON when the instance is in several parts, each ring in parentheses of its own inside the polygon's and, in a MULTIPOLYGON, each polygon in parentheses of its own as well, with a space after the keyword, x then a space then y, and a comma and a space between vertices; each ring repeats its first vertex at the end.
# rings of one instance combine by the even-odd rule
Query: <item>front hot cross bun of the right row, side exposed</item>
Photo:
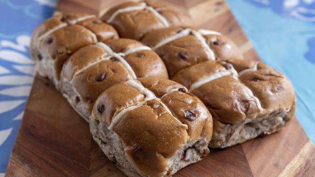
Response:
POLYGON ((211 148, 226 148, 279 131, 294 116, 291 82, 252 60, 196 64, 173 78, 200 98, 214 119, 211 148))

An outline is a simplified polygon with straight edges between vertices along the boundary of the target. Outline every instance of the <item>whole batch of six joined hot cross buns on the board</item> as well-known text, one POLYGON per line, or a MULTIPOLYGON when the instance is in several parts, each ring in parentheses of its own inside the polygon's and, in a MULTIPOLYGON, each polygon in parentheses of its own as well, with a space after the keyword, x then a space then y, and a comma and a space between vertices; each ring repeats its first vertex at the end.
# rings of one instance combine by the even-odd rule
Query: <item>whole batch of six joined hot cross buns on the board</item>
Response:
POLYGON ((126 2, 101 18, 53 16, 34 30, 31 56, 131 177, 171 176, 208 147, 279 131, 295 112, 284 75, 159 1, 126 2))

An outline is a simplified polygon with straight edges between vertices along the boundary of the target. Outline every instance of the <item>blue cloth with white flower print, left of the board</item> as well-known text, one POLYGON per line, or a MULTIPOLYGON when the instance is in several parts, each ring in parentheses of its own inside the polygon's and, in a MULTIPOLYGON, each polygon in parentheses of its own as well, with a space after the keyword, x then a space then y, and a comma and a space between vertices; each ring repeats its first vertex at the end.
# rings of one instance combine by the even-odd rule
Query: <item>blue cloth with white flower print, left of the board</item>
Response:
POLYGON ((57 0, 0 0, 0 177, 4 176, 34 77, 32 30, 57 0))

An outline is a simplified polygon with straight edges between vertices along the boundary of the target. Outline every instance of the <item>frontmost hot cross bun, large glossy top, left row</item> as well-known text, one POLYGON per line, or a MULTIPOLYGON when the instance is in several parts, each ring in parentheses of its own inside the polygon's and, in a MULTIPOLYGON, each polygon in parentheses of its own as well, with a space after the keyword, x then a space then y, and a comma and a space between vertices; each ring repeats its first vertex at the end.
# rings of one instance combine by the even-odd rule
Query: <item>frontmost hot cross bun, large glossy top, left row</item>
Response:
POLYGON ((211 115, 174 81, 149 77, 114 85, 96 100, 90 119, 94 140, 127 175, 170 176, 209 153, 211 115))

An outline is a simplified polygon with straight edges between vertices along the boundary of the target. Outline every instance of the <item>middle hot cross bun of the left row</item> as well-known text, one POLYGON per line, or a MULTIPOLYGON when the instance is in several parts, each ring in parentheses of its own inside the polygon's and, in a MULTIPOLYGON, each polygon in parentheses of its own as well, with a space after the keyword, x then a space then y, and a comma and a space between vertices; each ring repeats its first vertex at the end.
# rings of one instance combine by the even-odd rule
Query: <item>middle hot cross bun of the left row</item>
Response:
POLYGON ((106 44, 116 55, 120 53, 120 58, 106 51, 102 45, 92 44, 80 48, 63 65, 62 78, 72 81, 80 95, 78 101, 88 103, 91 111, 93 103, 104 90, 133 78, 122 60, 131 67, 136 77, 168 78, 163 61, 149 47, 141 48, 143 44, 140 42, 121 38, 108 40, 106 44), (137 51, 124 55, 124 52, 137 48, 137 51))

